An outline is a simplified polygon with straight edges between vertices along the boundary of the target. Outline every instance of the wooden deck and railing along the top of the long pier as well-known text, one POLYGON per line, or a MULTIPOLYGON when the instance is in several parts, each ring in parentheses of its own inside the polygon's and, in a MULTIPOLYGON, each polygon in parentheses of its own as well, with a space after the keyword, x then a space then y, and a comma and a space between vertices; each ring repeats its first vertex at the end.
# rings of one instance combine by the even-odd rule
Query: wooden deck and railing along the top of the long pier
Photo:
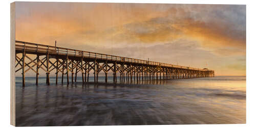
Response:
POLYGON ((31 42, 24 42, 24 41, 17 41, 17 40, 15 41, 15 49, 38 52, 38 53, 48 52, 49 54, 56 54, 56 55, 68 55, 68 56, 85 57, 85 58, 92 58, 92 59, 94 58, 94 59, 101 59, 101 60, 119 61, 119 62, 126 62, 126 63, 138 63, 138 64, 151 65, 151 66, 171 67, 171 68, 197 70, 197 71, 213 71, 208 69, 206 70, 206 69, 172 65, 169 63, 147 61, 142 59, 107 55, 107 54, 67 49, 67 48, 54 47, 54 46, 48 46, 48 45, 40 45, 40 44, 31 43, 31 42))

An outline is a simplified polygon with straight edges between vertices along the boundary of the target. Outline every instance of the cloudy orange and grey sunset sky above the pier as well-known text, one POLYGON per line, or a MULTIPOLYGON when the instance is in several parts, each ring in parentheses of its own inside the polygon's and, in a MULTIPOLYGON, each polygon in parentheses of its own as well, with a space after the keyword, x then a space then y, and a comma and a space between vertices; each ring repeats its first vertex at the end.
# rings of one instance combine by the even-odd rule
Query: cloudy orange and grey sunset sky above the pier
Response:
POLYGON ((15 9, 16 40, 246 75, 245 5, 17 2, 15 9))

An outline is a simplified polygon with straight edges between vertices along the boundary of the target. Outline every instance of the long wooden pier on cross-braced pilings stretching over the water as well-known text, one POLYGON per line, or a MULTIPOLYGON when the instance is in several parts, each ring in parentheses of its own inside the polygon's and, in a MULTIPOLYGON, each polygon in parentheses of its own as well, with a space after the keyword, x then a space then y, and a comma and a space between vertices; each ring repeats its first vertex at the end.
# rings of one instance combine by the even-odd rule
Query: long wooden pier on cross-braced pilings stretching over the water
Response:
POLYGON ((94 52, 80 51, 74 49, 53 47, 47 45, 34 44, 31 42, 15 41, 16 65, 15 72, 22 70, 23 86, 25 86, 25 73, 29 70, 35 72, 38 84, 38 70, 42 69, 46 73, 46 83, 50 85, 50 73, 63 76, 71 73, 71 82, 77 81, 77 73, 81 73, 82 82, 89 81, 90 71, 93 71, 94 82, 98 82, 100 72, 105 74, 105 82, 108 82, 108 74, 111 72, 113 81, 140 81, 140 80, 162 80, 162 79, 183 79, 198 77, 214 77, 214 70, 197 69, 168 63, 146 61, 141 59, 127 58, 114 55, 106 55, 94 52), (22 54, 18 57, 17 54, 22 54), (35 58, 28 54, 36 55, 35 58), (39 59, 39 56, 43 58, 39 59), (28 59, 29 62, 25 62, 28 59), (32 63, 32 65, 31 65, 32 63), (17 68, 20 66, 20 68, 17 68))

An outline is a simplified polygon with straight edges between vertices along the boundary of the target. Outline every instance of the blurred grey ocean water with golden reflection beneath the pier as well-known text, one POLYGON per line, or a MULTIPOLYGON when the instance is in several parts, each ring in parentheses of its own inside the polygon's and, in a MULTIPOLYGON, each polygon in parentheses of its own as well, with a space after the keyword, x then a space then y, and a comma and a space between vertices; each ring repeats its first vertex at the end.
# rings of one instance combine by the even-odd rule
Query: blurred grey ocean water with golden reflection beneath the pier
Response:
MULTIPOLYGON (((79 82, 16 77, 16 125, 246 123, 246 77, 216 76, 140 82, 79 82)), ((94 78, 90 77, 89 81, 94 78)), ((119 78, 117 78, 119 80, 119 78)))

